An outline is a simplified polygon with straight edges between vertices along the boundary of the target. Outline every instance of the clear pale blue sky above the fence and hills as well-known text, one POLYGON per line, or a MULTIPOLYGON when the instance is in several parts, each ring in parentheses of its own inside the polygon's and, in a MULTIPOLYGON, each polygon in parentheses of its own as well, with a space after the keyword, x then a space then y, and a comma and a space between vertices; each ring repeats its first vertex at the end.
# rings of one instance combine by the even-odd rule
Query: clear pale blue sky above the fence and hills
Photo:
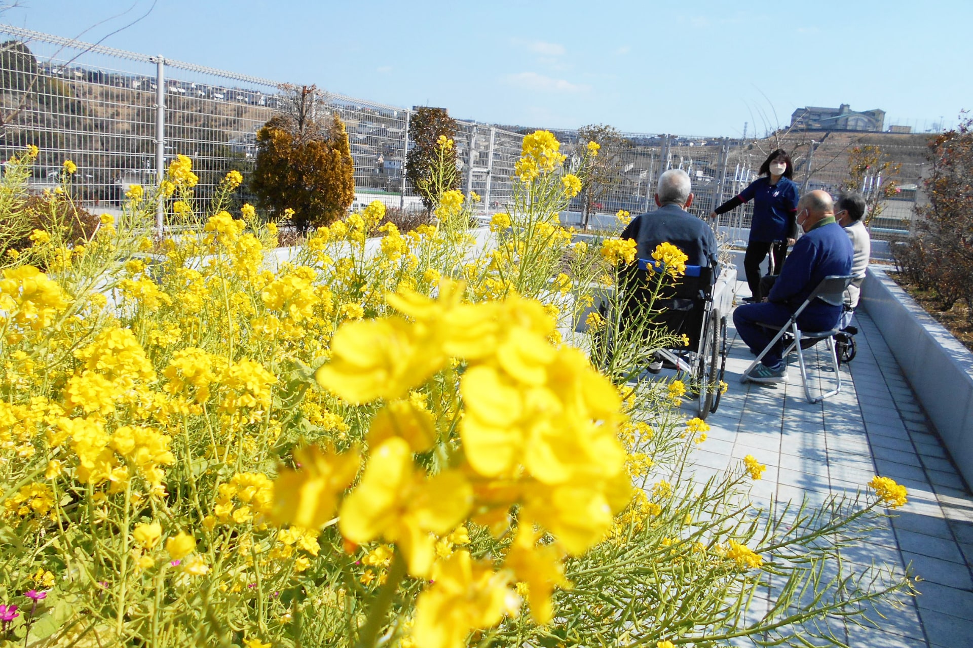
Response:
MULTIPOLYGON (((152 0, 21 5, 0 19, 59 36, 111 18, 93 42, 152 0)), ((739 136, 807 105, 955 123, 971 22, 971 0, 158 0, 104 45, 462 119, 739 136)))

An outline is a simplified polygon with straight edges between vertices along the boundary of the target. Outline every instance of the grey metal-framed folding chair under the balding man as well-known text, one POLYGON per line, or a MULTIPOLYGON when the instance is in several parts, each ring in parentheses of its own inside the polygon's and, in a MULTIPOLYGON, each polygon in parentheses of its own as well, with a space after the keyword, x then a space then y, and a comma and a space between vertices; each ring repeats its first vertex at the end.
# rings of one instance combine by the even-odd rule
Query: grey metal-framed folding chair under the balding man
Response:
POLYGON ((838 323, 836 322, 835 327, 831 328, 830 330, 803 331, 798 328, 797 319, 800 317, 801 313, 804 312, 804 309, 807 308, 812 301, 814 301, 814 299, 820 299, 821 301, 827 302, 833 306, 843 305, 845 303, 845 289, 847 289, 848 284, 851 283, 852 279, 854 279, 854 277, 851 275, 831 275, 825 277, 821 280, 821 283, 817 285, 817 288, 815 288, 811 294, 808 295, 808 298, 805 299, 804 303, 801 304, 801 307, 797 309, 786 324, 783 326, 761 324, 766 328, 776 330, 777 334, 774 336, 774 339, 772 339, 770 343, 764 347, 764 350, 757 355, 757 359, 753 360, 750 366, 746 368, 746 371, 744 371, 743 375, 740 377, 740 382, 746 382, 750 372, 757 367, 760 360, 767 355, 767 352, 771 350, 771 347, 776 344, 777 340, 783 337, 785 333, 789 332, 794 336, 794 339, 790 342, 780 357, 786 359, 792 351, 797 351, 797 358, 801 364, 801 381, 804 383, 804 394, 808 399, 808 402, 819 403, 828 396, 833 396, 840 392, 842 389, 842 374, 838 366, 838 355, 835 352, 835 336, 841 332, 841 329, 838 328, 838 323), (808 368, 804 361, 804 347, 811 348, 811 346, 817 344, 821 340, 828 341, 828 353, 831 354, 831 362, 835 369, 835 378, 838 381, 838 385, 831 392, 825 392, 819 396, 813 397, 811 396, 811 388, 808 386, 808 368), (802 341, 805 342, 805 345, 801 344, 802 341))

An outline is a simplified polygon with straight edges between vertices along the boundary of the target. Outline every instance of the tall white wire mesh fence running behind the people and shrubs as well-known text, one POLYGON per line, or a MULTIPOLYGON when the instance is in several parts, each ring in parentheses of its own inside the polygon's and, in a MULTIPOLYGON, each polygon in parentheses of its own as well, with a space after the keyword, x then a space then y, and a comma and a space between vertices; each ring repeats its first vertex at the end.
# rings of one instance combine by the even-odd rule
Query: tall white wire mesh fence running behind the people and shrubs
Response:
MULTIPOLYGON (((156 184, 160 168, 177 154, 193 158, 203 200, 230 170, 247 177, 257 131, 280 104, 280 85, 267 79, 8 25, 0 25, 0 41, 0 157, 36 145, 41 153, 30 182, 37 190, 54 188, 63 160, 73 160, 80 199, 101 210, 117 209, 132 185, 156 184)), ((421 209, 405 178, 413 111, 329 92, 324 101, 348 134, 354 206, 380 200, 389 207, 421 209)), ((482 197, 478 209, 500 211, 511 200, 514 163, 527 132, 458 122, 460 188, 482 197)), ((579 141, 577 130, 553 132, 566 163, 576 165, 587 142, 579 141)), ((849 155, 872 143, 900 167, 894 175, 898 190, 875 201, 882 214, 871 223, 873 238, 896 240, 912 229, 924 146, 920 137, 889 133, 783 131, 760 140, 622 133, 612 151, 602 152, 608 171, 596 195, 573 200, 562 221, 581 222, 583 200, 591 198, 589 222, 617 227, 619 210, 638 214, 652 208, 656 181, 669 168, 689 174, 695 195, 690 211, 707 215, 752 182, 775 148, 791 154, 802 190, 836 193, 847 187, 849 155)), ((884 177, 866 171, 856 188, 878 196, 890 179, 888 171, 884 177)), ((720 217, 731 242, 745 243, 751 213, 752 207, 743 205, 720 217)))

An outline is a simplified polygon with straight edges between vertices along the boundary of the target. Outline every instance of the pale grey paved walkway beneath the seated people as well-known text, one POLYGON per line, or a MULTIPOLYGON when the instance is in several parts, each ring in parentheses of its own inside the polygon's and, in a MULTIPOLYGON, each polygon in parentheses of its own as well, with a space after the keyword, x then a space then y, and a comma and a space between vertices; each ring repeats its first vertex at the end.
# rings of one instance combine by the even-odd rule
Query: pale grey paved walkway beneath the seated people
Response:
MULTIPOLYGON (((898 569, 912 563, 919 597, 905 609, 889 609, 887 619, 879 620, 881 630, 852 628, 847 642, 869 648, 973 646, 973 497, 882 334, 864 313, 856 317, 858 355, 842 365, 842 391, 816 405, 804 398, 794 357, 787 385, 740 384, 753 356, 731 320, 730 389, 706 420, 711 430, 695 455, 698 474, 753 455, 767 465, 752 491, 757 500, 774 495, 800 501, 807 495, 820 501, 835 491, 853 493, 876 474, 906 486, 909 502, 897 517, 876 531, 873 542, 843 554, 852 562, 874 558, 898 569)), ((814 348, 806 358, 812 358, 811 374, 830 385, 834 372, 823 370, 823 353, 817 358, 814 348)))

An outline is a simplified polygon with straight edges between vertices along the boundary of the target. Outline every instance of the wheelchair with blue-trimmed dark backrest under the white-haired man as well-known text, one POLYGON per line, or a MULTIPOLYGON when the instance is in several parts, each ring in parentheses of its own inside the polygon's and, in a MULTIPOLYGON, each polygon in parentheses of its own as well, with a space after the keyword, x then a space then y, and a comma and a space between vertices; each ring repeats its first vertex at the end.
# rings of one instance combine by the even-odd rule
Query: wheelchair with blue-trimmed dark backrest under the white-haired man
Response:
MULTIPOLYGON (((661 268, 652 259, 638 259, 638 269, 633 279, 638 286, 633 290, 626 306, 630 312, 623 314, 629 319, 631 309, 648 301, 648 289, 643 288, 661 268), (640 286, 639 286, 640 285, 640 286)), ((656 363, 676 370, 676 378, 690 386, 698 394, 698 415, 705 419, 720 405, 727 358, 727 314, 730 309, 722 294, 727 286, 717 284, 714 268, 687 265, 686 274, 674 286, 660 291, 655 308, 662 312, 653 322, 665 326, 675 335, 684 334, 689 344, 675 349, 659 349, 655 352, 656 363)), ((730 303, 733 296, 730 294, 730 303)), ((661 369, 660 369, 661 370, 661 369)), ((652 369, 650 368, 650 371, 652 369)), ((658 373, 658 371, 652 371, 658 373)))

